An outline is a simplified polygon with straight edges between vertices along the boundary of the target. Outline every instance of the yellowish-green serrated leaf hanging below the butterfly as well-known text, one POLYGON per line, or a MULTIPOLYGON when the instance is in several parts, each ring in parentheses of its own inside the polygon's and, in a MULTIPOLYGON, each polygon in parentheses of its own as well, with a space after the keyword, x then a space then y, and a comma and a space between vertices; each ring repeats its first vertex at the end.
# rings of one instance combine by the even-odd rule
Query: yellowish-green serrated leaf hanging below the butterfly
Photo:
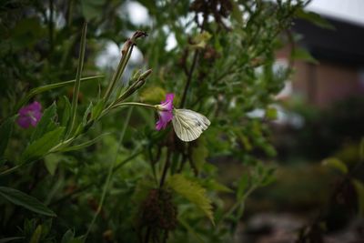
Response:
POLYGON ((177 194, 186 197, 188 201, 195 204, 214 223, 212 213, 212 205, 210 199, 206 195, 205 188, 199 186, 196 182, 188 180, 181 174, 175 174, 168 178, 167 186, 171 187, 177 194))

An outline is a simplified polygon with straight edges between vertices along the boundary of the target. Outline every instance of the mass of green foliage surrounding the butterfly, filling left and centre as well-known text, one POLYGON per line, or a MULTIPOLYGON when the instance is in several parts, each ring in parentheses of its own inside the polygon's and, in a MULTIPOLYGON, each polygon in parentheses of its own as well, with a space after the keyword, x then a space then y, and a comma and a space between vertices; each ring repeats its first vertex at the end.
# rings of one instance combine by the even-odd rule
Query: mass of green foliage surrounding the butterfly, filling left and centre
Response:
POLYGON ((275 155, 267 121, 291 71, 275 70, 275 51, 284 46, 280 34, 302 15, 305 1, 139 2, 147 7, 151 29, 130 23, 120 11, 128 3, 120 1, 19 0, 0 9, 0 116, 10 117, 1 125, 1 237, 231 242, 248 195, 272 181, 274 170, 265 165, 275 155), (84 19, 87 38, 86 27, 79 31, 84 19), (93 60, 103 42, 123 43, 136 27, 149 33, 137 46, 155 70, 137 98, 157 104, 174 93, 175 106, 206 115, 211 127, 197 141, 180 142, 170 127, 155 131, 155 114, 142 108, 104 116, 104 108, 109 112, 107 107, 136 92, 130 89, 143 76, 136 72, 129 86, 119 85, 133 38, 111 81, 98 76, 99 86, 81 86, 81 76, 96 79, 100 70, 93 60), (171 50, 168 36, 177 41, 171 50), (69 84, 73 90, 66 89, 69 84), (105 96, 96 96, 98 89, 105 96), (13 115, 34 96, 54 105, 30 131, 14 127, 13 115), (247 115, 258 108, 266 116, 247 115), (104 132, 110 135, 100 137, 104 132), (222 185, 217 165, 230 157, 250 170, 222 185), (232 207, 221 193, 234 199, 232 207), (50 230, 47 218, 55 214, 50 230), (76 238, 74 230, 83 237, 76 238))

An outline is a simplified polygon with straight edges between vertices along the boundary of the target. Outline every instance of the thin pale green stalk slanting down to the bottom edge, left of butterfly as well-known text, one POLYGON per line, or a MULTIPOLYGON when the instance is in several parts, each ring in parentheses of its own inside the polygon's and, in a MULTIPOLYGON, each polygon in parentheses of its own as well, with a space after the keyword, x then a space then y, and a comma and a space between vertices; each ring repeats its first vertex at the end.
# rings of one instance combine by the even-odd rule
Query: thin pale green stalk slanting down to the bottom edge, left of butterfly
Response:
POLYGON ((119 141, 118 141, 118 144, 117 144, 115 159, 111 163, 110 167, 108 168, 106 182, 105 182, 104 189, 103 189, 103 192, 102 192, 102 195, 101 195, 100 204, 99 204, 99 206, 98 206, 98 208, 96 210, 96 213, 94 215, 94 218, 92 218, 92 221, 91 221, 90 226, 87 229, 87 232, 86 232, 86 235, 85 235, 85 241, 86 241, 87 236, 89 235, 91 229, 93 228, 93 226, 94 226, 94 224, 96 222, 97 216, 101 212, 101 209, 102 209, 102 207, 104 205, 105 198, 106 198, 106 192, 108 190, 108 187, 110 186, 111 176, 113 175, 113 170, 114 170, 114 167, 115 167, 115 164, 116 164, 117 154, 118 154, 118 152, 120 150, 121 143, 122 143, 123 138, 124 138, 124 135, 126 133, 126 127, 129 124, 129 120, 130 120, 130 116, 131 116, 132 111, 133 111, 133 107, 130 107, 130 109, 127 111, 126 119, 125 119, 125 124, 124 124, 123 129, 121 130, 120 137, 119 137, 119 141))

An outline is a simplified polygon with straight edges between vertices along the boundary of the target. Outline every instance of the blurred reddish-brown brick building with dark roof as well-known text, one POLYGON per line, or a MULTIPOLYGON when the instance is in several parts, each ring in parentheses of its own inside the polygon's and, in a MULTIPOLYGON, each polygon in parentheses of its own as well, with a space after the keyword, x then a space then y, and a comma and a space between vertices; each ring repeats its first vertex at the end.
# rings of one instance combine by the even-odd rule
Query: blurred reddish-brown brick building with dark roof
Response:
MULTIPOLYGON (((308 50, 319 64, 295 61, 296 72, 288 89, 319 107, 349 96, 364 96, 364 25, 325 18, 335 29, 295 21, 293 31, 302 35, 298 46, 308 50)), ((278 59, 287 57, 288 49, 278 53, 278 59)))

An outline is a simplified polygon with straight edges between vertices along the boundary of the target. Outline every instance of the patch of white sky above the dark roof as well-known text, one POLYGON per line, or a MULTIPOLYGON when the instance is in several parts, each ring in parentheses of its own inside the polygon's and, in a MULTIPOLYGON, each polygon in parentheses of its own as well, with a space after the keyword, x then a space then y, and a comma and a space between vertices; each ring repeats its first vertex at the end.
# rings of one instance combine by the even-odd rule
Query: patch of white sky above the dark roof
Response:
POLYGON ((364 25, 364 0, 312 0, 308 10, 364 25))

